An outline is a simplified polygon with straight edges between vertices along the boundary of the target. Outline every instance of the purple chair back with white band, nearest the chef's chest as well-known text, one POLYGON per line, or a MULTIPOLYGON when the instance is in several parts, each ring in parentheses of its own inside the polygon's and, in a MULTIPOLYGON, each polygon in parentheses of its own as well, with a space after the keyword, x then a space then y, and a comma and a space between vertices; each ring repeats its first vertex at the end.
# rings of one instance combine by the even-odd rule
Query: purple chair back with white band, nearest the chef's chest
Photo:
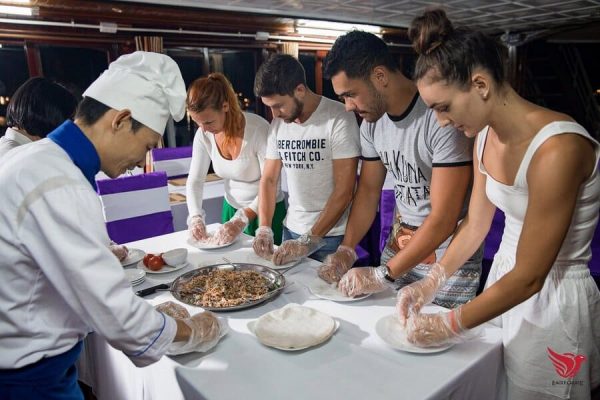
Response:
POLYGON ((174 232, 164 171, 97 181, 110 238, 127 243, 174 232))

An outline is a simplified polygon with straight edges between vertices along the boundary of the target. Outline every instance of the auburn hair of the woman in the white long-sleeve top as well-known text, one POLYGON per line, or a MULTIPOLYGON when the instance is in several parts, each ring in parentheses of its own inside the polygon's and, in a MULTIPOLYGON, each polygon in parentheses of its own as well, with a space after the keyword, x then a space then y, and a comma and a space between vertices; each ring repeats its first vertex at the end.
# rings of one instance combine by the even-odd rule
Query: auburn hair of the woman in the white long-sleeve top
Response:
POLYGON ((231 82, 225 75, 214 72, 196 79, 188 89, 186 103, 191 112, 202 112, 207 108, 220 111, 225 102, 229 104, 229 111, 225 114, 223 131, 224 144, 228 144, 244 128, 244 115, 231 82))

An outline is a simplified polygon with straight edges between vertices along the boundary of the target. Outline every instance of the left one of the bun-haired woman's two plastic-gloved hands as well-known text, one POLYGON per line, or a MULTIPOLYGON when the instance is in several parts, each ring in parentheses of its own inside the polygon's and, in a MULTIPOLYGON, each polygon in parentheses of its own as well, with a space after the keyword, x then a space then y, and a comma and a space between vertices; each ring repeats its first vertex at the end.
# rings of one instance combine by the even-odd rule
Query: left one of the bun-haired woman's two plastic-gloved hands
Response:
POLYGON ((431 303, 435 293, 447 280, 444 267, 435 263, 423 279, 400 289, 396 296, 396 311, 400 323, 405 325, 411 315, 417 314, 425 304, 431 303))

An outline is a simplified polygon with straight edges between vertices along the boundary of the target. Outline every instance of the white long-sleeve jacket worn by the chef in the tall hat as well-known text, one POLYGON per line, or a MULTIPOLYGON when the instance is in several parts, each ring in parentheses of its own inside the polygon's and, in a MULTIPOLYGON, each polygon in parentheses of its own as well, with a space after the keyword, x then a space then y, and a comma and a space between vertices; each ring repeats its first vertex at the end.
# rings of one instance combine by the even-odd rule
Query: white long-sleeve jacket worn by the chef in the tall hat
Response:
POLYGON ((0 187, 0 369, 62 354, 90 331, 138 366, 158 360, 175 321, 134 295, 67 153, 49 139, 11 151, 0 187))

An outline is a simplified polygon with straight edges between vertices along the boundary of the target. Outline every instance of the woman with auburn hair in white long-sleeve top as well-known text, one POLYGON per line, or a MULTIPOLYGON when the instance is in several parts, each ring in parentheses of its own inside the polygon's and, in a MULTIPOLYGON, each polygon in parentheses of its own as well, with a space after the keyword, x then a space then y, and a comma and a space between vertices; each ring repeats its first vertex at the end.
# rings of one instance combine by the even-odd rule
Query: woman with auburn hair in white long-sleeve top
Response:
MULTIPOLYGON (((258 228, 258 188, 263 169, 269 123, 242 112, 237 95, 220 73, 196 79, 188 89, 187 109, 198 125, 186 195, 190 236, 213 244, 231 243, 244 231, 254 236, 258 228), (204 223, 202 194, 206 174, 213 170, 225 184, 221 228, 209 238, 204 223), (245 230, 244 230, 245 229, 245 230)), ((285 203, 281 188, 273 216, 276 243, 281 243, 285 203)))

